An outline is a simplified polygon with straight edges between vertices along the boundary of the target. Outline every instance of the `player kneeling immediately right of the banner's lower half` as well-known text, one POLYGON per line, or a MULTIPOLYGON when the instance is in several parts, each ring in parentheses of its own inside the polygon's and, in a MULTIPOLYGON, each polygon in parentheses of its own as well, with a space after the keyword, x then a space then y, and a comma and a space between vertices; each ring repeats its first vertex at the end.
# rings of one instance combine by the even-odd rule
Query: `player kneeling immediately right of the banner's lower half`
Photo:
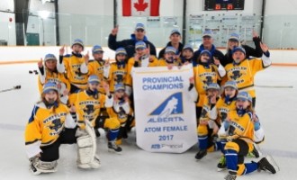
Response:
MULTIPOLYGON (((217 144, 213 141, 213 136, 217 134, 220 124, 216 119, 211 119, 211 109, 215 108, 215 104, 220 98, 220 85, 211 83, 206 87, 206 98, 204 99, 202 106, 202 113, 199 118, 199 125, 197 128, 199 151, 195 158, 197 160, 202 159, 207 155, 208 149, 210 151, 215 150, 217 144)), ((217 147, 218 148, 218 147, 217 147)))

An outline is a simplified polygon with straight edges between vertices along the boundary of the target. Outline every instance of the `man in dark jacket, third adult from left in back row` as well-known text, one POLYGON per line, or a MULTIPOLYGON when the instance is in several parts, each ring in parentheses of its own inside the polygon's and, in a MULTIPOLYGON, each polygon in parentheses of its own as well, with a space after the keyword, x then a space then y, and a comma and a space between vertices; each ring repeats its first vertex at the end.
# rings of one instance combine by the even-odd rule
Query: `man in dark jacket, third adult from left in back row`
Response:
POLYGON ((193 53, 193 59, 194 59, 193 66, 196 66, 196 64, 198 62, 197 58, 199 58, 202 50, 209 50, 211 52, 211 63, 214 64, 213 58, 217 58, 220 60, 220 64, 223 65, 223 62, 226 61, 225 56, 220 50, 216 49, 212 43, 213 43, 212 32, 211 31, 203 31, 202 45, 200 45, 199 49, 197 49, 193 53))

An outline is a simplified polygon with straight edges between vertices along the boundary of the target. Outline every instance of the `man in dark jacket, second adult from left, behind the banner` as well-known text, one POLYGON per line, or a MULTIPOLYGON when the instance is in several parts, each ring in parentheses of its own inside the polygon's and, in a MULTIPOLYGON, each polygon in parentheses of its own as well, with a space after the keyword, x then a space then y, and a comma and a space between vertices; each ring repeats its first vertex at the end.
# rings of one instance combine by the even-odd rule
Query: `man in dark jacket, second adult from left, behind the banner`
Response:
POLYGON ((160 50, 157 58, 164 58, 165 49, 168 46, 171 46, 171 47, 174 47, 175 49, 177 49, 176 55, 178 55, 179 53, 182 52, 182 50, 184 48, 184 44, 182 44, 180 42, 180 40, 182 40, 181 33, 178 30, 173 30, 170 33, 169 39, 170 39, 170 41, 167 43, 167 45, 164 49, 160 50))

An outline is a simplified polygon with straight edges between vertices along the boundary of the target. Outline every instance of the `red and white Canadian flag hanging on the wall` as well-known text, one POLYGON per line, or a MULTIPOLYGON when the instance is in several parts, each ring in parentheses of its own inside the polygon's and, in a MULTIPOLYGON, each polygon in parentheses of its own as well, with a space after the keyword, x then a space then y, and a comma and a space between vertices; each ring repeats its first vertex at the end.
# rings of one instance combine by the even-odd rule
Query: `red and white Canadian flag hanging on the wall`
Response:
POLYGON ((159 16, 160 0, 122 0, 122 16, 159 16))

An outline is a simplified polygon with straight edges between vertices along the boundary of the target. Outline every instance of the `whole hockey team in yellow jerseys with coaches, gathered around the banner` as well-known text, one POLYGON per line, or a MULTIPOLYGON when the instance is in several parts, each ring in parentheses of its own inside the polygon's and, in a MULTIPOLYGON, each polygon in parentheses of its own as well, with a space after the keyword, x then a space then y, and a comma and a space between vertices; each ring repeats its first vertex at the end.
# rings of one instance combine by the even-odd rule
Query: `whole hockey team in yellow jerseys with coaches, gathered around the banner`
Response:
MULTIPOLYGON (((121 140, 137 128, 133 113, 133 69, 138 67, 182 67, 193 65, 189 93, 196 97, 197 160, 221 151, 218 171, 227 169, 227 180, 254 171, 275 174, 272 157, 245 163, 246 157, 260 157, 259 143, 265 132, 255 112, 254 77, 271 65, 270 53, 253 31, 256 48, 241 44, 237 33, 229 34, 224 55, 213 45, 211 31, 202 32, 202 45, 193 50, 183 45, 181 33, 171 31, 166 48, 158 56, 148 41, 145 26, 137 23, 130 39, 117 41, 119 27, 112 29, 108 46, 114 61, 103 59, 95 45, 93 59, 82 54, 84 42, 76 39, 71 54, 65 46, 59 57, 47 54, 38 62, 40 101, 36 103, 25 129, 25 148, 34 175, 57 171, 61 144, 77 147, 80 168, 101 166, 96 155, 96 138, 106 132, 108 150, 121 153, 121 140)), ((137 118, 137 117, 136 117, 137 118)))

